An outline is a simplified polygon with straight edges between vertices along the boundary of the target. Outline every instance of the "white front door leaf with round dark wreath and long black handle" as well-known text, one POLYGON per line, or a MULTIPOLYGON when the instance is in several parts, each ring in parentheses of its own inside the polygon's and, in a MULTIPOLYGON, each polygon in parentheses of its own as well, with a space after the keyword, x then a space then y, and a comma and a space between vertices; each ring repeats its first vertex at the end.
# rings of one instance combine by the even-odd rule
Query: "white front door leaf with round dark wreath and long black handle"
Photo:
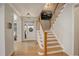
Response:
POLYGON ((28 23, 24 25, 24 40, 35 39, 34 28, 35 28, 34 25, 28 25, 28 23))

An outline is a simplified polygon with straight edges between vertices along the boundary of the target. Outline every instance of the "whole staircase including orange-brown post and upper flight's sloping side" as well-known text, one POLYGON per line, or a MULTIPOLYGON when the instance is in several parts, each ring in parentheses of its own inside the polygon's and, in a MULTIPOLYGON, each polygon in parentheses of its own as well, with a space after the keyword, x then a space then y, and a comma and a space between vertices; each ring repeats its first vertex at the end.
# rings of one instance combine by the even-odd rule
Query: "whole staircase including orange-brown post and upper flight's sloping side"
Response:
MULTIPOLYGON (((49 23, 49 24, 51 24, 51 26, 53 26, 54 24, 55 24, 55 22, 56 22, 56 18, 59 16, 59 14, 61 13, 61 11, 63 10, 63 8, 64 8, 64 3, 62 3, 62 4, 57 4, 56 5, 56 8, 55 8, 55 10, 54 10, 54 12, 53 12, 53 17, 52 17, 52 19, 51 19, 51 23, 49 23), (53 24, 53 25, 52 25, 53 24)), ((51 28, 51 26, 47 26, 46 25, 47 23, 45 23, 45 25, 44 26, 42 26, 43 28, 45 27, 45 30, 46 30, 46 28, 48 28, 48 27, 50 27, 51 28)), ((50 29, 49 28, 49 29, 50 29)), ((48 30, 49 30, 48 29, 48 30)), ((45 31, 44 30, 44 31, 45 31)), ((45 34, 44 34, 45 35, 45 34)), ((44 41, 44 45, 42 45, 43 47, 44 47, 44 49, 40 49, 39 51, 39 54, 40 55, 47 55, 47 56, 68 56, 65 52, 64 52, 64 50, 63 50, 63 48, 61 47, 61 45, 60 45, 60 43, 58 42, 58 40, 57 40, 57 38, 56 38, 56 36, 55 36, 55 34, 53 34, 52 33, 52 31, 48 31, 47 32, 47 34, 45 35, 45 41, 44 41), (46 37, 46 38, 45 38, 46 37)))

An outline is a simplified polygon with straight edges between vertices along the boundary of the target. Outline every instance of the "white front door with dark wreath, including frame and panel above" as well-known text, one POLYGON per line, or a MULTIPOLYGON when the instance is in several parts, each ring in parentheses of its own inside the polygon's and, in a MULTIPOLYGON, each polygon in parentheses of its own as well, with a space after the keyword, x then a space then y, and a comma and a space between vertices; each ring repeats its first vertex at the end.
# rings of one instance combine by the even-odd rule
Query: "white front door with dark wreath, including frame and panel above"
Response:
POLYGON ((36 40, 36 22, 31 19, 23 20, 23 41, 36 40))

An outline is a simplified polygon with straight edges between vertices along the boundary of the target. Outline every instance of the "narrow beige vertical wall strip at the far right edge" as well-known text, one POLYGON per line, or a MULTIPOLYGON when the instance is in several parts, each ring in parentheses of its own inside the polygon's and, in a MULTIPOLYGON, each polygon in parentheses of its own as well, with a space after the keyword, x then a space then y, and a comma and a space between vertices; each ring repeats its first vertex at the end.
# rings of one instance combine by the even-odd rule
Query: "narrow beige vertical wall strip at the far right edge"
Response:
POLYGON ((74 55, 79 55, 79 5, 74 7, 74 55))

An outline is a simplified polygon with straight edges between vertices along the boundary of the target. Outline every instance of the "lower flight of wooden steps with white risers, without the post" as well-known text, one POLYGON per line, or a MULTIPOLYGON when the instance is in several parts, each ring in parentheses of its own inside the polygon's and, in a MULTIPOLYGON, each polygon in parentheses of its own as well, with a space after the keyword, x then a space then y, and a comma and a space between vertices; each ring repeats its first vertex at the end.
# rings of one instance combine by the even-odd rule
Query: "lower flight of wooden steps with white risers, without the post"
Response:
MULTIPOLYGON (((40 53, 44 55, 44 49, 40 49, 40 53)), ((67 56, 52 32, 47 34, 47 56, 67 56)))

